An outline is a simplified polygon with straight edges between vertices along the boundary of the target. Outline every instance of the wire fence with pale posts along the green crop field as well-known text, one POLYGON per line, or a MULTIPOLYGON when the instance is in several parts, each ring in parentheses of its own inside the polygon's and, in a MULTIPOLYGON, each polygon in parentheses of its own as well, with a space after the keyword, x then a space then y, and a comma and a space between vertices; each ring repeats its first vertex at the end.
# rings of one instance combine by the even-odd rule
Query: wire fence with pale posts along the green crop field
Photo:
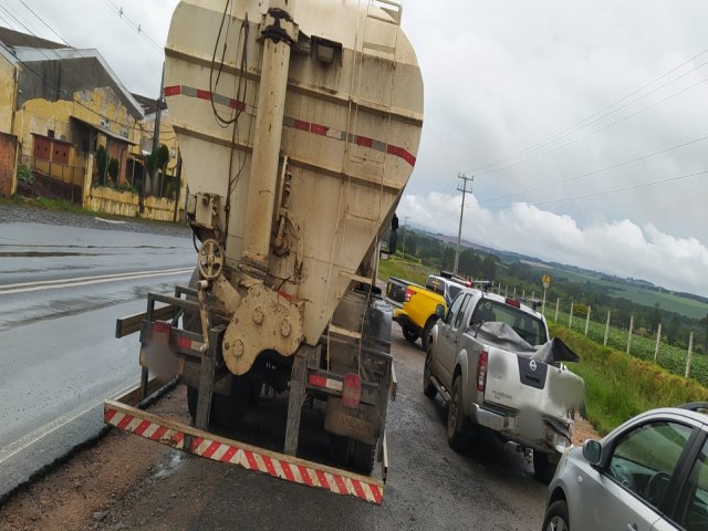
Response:
MULTIPOLYGON (((509 292, 501 285, 493 287, 492 291, 506 296, 521 296, 525 293, 509 292)), ((657 364, 670 373, 697 379, 708 386, 708 356, 694 355, 695 334, 691 331, 688 337, 688 348, 669 345, 662 336, 662 324, 656 332, 648 333, 635 327, 634 316, 629 320, 629 326, 613 324, 612 310, 605 314, 593 314, 592 306, 577 301, 543 301, 531 293, 530 300, 538 304, 545 319, 568 329, 586 335, 591 341, 626 352, 639 360, 657 364)), ((581 353, 582 354, 582 353, 581 353)))

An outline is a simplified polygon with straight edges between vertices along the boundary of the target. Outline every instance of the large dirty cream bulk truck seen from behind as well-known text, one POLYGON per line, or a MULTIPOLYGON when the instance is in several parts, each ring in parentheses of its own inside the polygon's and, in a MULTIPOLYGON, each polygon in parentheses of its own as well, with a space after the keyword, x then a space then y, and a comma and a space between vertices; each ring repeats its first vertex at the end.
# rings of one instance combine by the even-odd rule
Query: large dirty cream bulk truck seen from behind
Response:
POLYGON ((164 95, 188 175, 196 270, 118 320, 139 388, 112 426, 204 457, 381 502, 395 392, 379 239, 413 171, 423 81, 394 0, 186 0, 164 95), (194 426, 134 407, 187 386, 194 426), (280 451, 215 435, 288 393, 280 451), (299 459, 302 405, 342 467, 299 459), (369 473, 375 456, 383 472, 369 473), (347 471, 345 468, 362 472, 347 471))

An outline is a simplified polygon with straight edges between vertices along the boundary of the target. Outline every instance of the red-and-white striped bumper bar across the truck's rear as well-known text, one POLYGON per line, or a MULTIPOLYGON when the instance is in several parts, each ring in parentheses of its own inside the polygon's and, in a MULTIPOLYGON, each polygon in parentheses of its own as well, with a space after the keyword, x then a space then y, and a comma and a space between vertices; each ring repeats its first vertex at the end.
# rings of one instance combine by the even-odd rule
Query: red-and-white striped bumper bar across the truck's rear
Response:
MULTIPOLYGON (((335 494, 353 496, 371 503, 381 504, 383 501, 386 472, 381 480, 220 437, 128 405, 134 403, 136 396, 137 389, 132 389, 122 397, 105 400, 105 424, 177 450, 273 478, 329 490, 335 494)), ((384 440, 384 471, 388 468, 385 446, 384 440)))

